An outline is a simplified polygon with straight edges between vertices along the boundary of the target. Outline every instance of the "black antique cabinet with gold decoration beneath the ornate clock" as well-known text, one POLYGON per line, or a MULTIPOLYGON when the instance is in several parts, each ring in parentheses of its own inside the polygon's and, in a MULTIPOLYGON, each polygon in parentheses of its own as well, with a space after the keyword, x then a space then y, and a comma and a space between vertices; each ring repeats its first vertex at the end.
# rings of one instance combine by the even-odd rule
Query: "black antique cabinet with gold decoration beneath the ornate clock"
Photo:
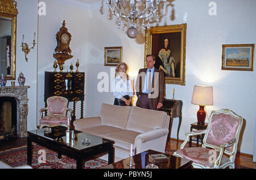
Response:
POLYGON ((80 118, 84 116, 84 72, 45 72, 44 102, 52 96, 61 96, 73 102, 72 121, 76 119, 76 103, 81 101, 80 118))

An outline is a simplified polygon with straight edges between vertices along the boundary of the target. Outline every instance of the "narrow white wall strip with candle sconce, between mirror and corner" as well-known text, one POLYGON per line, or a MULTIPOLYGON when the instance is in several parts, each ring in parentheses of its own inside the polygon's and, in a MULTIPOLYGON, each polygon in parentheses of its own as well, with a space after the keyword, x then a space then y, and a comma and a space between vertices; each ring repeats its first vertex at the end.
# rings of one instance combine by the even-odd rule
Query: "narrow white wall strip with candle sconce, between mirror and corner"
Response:
MULTIPOLYGON (((38 2, 35 0, 18 0, 17 1, 17 29, 16 29, 16 82, 18 86, 19 73, 22 72, 26 78, 25 85, 30 86, 28 89, 28 121, 27 129, 35 129, 36 127, 36 74, 37 74, 37 44, 34 49, 28 53, 28 62, 25 60, 25 54, 20 47, 22 43, 22 35, 24 35, 24 43, 32 47, 34 32, 38 35, 38 2)), ((38 41, 36 40, 36 43, 38 41)), ((7 81, 7 86, 11 85, 11 81, 7 81)))

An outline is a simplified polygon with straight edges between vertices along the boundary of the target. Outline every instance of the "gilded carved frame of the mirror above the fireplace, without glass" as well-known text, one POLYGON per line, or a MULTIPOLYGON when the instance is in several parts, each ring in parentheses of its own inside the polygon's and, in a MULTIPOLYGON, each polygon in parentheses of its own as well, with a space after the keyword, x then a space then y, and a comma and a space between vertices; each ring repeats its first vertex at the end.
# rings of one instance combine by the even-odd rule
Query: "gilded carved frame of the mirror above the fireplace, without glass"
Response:
POLYGON ((10 75, 6 75, 7 80, 15 80, 16 73, 16 18, 18 15, 17 2, 14 0, 0 1, 0 16, 12 19, 11 27, 11 70, 10 75))

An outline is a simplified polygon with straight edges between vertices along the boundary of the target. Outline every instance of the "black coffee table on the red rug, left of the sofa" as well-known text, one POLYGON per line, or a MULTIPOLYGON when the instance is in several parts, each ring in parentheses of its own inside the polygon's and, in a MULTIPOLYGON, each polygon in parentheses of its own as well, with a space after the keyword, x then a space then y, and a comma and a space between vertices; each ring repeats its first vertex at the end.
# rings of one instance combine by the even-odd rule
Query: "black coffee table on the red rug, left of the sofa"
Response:
MULTIPOLYGON (((51 133, 44 133, 44 129, 36 129, 28 131, 27 137, 27 165, 32 165, 32 142, 45 146, 58 153, 58 158, 61 154, 75 158, 76 168, 84 168, 83 160, 93 159, 101 153, 108 153, 108 164, 114 162, 114 141, 104 139, 99 136, 91 135, 89 133, 75 131, 75 139, 66 143, 65 130, 63 126, 52 127, 51 133), (82 140, 89 139, 91 143, 82 144, 82 140)), ((71 137, 71 135, 70 135, 71 137)))

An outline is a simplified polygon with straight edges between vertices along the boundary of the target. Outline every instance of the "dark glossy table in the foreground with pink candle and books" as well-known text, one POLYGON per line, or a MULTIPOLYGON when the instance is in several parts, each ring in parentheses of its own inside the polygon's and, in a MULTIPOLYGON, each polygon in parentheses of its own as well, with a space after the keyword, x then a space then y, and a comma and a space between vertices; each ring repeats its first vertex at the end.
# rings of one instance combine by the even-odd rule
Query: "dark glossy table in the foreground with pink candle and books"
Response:
MULTIPOLYGON (((148 154, 165 154, 168 157, 168 160, 164 161, 156 161, 154 164, 158 166, 159 169, 191 169, 192 168, 192 161, 187 160, 186 158, 180 158, 176 156, 172 156, 170 154, 157 152, 155 150, 146 150, 144 151, 147 154, 144 158, 143 165, 151 164, 151 162, 148 160, 149 156, 148 154)), ((136 154, 133 156, 133 168, 132 169, 144 169, 142 167, 142 153, 136 154)), ((102 169, 130 169, 130 157, 125 158, 124 160, 115 162, 113 164, 107 165, 102 167, 102 169)))

